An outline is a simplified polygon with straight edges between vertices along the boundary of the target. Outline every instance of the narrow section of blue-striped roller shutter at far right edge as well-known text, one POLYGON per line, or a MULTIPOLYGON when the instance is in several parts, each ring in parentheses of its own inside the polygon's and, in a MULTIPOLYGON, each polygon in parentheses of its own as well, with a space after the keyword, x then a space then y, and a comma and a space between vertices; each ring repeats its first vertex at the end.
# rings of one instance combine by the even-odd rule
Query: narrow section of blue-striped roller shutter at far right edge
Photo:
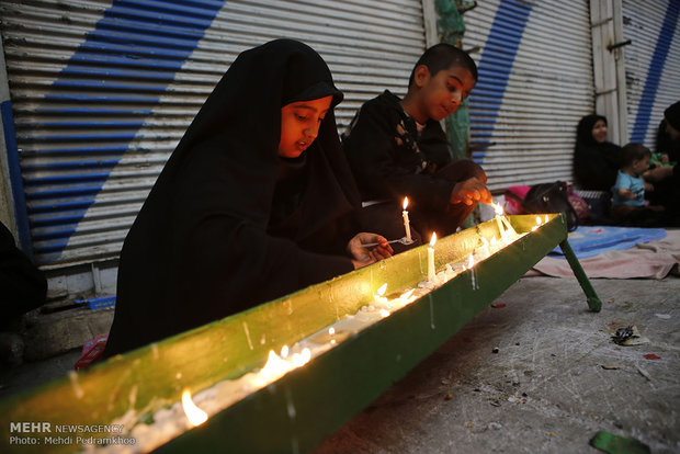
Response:
POLYGON ((680 1, 623 1, 630 141, 655 149, 666 107, 680 101, 680 1))

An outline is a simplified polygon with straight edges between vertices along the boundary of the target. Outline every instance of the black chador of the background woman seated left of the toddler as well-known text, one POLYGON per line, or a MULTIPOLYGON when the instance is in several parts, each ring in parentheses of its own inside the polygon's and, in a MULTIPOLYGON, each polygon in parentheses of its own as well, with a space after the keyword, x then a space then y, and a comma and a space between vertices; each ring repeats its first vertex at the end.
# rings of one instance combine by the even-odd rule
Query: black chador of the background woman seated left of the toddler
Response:
POLYGON ((610 191, 621 166, 621 147, 611 141, 598 143, 592 137, 592 127, 599 120, 607 124, 607 118, 602 115, 586 115, 578 123, 574 177, 580 189, 610 191))

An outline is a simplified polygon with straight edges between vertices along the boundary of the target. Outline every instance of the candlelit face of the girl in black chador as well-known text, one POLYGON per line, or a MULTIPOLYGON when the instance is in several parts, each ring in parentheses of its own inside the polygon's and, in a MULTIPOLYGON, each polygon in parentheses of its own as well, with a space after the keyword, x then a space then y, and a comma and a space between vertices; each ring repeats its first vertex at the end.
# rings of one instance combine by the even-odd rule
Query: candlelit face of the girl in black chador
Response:
POLYGON ((297 158, 319 134, 319 126, 330 109, 332 97, 296 101, 281 109, 279 156, 297 158))

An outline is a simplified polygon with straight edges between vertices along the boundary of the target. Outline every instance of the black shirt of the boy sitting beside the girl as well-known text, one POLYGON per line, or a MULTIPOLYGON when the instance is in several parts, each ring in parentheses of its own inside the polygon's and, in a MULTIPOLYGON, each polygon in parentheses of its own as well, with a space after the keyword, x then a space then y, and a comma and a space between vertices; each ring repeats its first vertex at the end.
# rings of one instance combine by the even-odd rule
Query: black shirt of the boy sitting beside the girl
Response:
POLYGON ((408 196, 412 207, 445 209, 455 183, 433 173, 451 162, 446 135, 434 120, 419 134, 399 101, 388 90, 366 101, 342 135, 362 200, 408 196))

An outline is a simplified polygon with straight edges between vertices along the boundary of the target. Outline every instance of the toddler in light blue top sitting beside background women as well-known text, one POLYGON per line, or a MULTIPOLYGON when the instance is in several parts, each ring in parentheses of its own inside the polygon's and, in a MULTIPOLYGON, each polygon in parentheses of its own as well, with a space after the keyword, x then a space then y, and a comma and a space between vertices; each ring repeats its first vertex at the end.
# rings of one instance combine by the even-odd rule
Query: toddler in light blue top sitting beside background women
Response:
MULTIPOLYGON (((645 220, 645 214, 662 209, 645 208, 645 180, 643 173, 649 168, 651 151, 642 144, 628 144, 621 149, 621 170, 612 186, 612 217, 620 220, 645 220)), ((653 186, 646 183, 648 189, 653 186)))

